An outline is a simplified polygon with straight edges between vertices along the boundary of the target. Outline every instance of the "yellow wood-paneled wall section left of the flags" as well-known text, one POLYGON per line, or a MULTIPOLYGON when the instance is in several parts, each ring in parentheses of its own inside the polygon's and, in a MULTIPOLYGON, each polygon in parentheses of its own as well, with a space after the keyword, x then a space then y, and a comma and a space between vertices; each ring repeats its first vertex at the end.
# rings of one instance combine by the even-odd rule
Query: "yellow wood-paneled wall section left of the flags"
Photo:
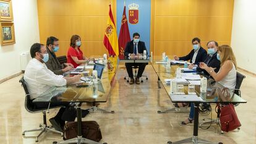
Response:
MULTIPOLYGON (((108 20, 109 2, 116 17, 115 0, 38 0, 40 42, 48 36, 59 38, 58 56, 66 55, 72 35, 82 39, 85 56, 107 53, 103 38, 108 20)), ((116 20, 115 20, 116 21, 116 20)))

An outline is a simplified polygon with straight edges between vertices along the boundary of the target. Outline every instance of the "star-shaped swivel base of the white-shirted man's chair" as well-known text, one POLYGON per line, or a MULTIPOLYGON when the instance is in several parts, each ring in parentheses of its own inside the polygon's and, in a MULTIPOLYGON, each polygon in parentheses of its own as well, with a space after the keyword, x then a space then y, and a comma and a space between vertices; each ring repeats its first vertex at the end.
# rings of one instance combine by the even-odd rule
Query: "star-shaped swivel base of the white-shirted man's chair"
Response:
POLYGON ((61 137, 63 137, 63 133, 62 132, 59 132, 58 130, 55 130, 53 127, 51 126, 47 126, 46 124, 46 112, 43 112, 43 124, 40 124, 39 125, 39 128, 38 129, 32 129, 32 130, 24 130, 22 132, 22 135, 25 137, 25 133, 26 132, 37 132, 37 131, 41 131, 35 138, 35 142, 38 142, 38 138, 44 133, 44 132, 54 132, 54 133, 59 133, 61 134, 61 137))

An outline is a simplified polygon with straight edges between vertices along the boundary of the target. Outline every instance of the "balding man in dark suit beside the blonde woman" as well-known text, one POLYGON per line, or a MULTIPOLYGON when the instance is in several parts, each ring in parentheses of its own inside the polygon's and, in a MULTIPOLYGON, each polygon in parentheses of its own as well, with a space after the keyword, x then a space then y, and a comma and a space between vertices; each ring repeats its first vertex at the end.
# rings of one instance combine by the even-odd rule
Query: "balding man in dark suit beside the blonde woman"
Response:
MULTIPOLYGON (((208 48, 208 55, 205 59, 205 64, 207 64, 208 67, 215 68, 215 72, 218 72, 220 70, 220 61, 217 59, 217 51, 218 51, 218 43, 216 41, 208 41, 207 43, 208 48)), ((208 72, 204 69, 201 69, 198 66, 195 66, 194 64, 189 65, 189 69, 197 70, 197 72, 203 72, 205 75, 210 75, 208 72)))

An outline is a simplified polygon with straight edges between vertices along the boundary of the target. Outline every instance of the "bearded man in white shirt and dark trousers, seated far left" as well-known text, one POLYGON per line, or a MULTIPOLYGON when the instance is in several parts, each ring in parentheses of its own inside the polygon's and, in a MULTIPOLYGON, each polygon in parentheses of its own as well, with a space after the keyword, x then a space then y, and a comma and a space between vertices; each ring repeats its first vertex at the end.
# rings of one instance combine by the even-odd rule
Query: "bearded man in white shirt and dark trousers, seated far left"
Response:
MULTIPOLYGON (((80 75, 75 75, 74 77, 63 77, 62 75, 55 75, 51 70, 49 70, 45 65, 49 56, 43 44, 33 44, 30 48, 30 55, 32 59, 28 62, 25 69, 24 80, 27 85, 28 92, 31 94, 31 100, 37 98, 40 93, 44 93, 51 87, 61 87, 69 83, 80 81, 80 75)), ((49 102, 34 104, 36 108, 48 108, 49 102)), ((59 112, 55 117, 49 119, 51 124, 53 124, 54 129, 62 131, 65 121, 72 121, 75 119, 76 111, 73 109, 71 112, 72 114, 70 114, 70 106, 68 102, 54 102, 51 103, 50 106, 65 106, 65 108, 59 109, 59 112), (69 113, 69 116, 67 116, 67 114, 64 116, 64 112, 69 113)))

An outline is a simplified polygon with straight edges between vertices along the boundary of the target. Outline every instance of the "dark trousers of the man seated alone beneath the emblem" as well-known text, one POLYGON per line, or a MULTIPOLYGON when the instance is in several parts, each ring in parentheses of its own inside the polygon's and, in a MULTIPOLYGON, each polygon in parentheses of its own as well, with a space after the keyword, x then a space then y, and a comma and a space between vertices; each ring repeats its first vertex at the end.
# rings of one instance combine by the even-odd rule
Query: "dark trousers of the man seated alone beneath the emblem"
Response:
POLYGON ((138 66, 139 70, 137 73, 137 78, 142 77, 142 74, 144 72, 144 69, 146 67, 147 63, 126 63, 126 70, 130 78, 134 78, 134 74, 132 72, 132 66, 138 66))

